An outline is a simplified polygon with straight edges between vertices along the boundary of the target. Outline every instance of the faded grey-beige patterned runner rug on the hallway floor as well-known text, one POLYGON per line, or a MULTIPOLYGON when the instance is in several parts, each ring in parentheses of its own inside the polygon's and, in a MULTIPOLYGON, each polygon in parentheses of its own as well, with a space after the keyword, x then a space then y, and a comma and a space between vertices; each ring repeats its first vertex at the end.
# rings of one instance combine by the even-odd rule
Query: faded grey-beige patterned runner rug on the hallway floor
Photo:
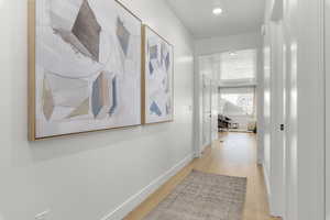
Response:
POLYGON ((246 182, 193 170, 144 220, 241 220, 246 182))

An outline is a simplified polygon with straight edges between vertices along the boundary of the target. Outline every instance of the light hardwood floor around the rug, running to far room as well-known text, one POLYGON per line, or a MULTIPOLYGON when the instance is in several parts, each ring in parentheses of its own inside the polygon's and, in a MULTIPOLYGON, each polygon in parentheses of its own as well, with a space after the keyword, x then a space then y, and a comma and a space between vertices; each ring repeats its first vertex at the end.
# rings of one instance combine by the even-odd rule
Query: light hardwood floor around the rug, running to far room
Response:
POLYGON ((152 211, 193 170, 248 177, 243 220, 271 218, 262 167, 256 165, 256 139, 251 133, 220 133, 201 158, 194 160, 164 186, 150 196, 124 220, 141 220, 152 211))

